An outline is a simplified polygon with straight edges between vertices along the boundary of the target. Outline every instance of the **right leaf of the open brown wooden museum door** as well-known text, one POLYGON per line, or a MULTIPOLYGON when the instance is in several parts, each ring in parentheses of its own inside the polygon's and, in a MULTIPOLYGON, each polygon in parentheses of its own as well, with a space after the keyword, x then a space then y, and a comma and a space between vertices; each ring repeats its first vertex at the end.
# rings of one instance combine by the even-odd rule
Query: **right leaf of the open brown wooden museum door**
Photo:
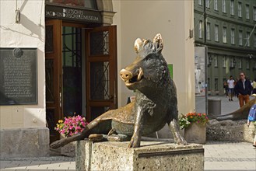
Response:
POLYGON ((86 31, 86 115, 93 120, 117 108, 117 29, 86 31))

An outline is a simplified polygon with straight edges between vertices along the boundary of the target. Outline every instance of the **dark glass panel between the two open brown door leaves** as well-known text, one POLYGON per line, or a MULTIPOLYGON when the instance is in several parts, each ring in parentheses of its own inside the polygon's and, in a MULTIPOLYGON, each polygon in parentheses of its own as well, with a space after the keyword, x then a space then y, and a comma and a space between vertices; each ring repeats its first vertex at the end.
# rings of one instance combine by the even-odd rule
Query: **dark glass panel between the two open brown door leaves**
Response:
POLYGON ((81 29, 62 26, 63 115, 82 115, 82 36, 81 29))

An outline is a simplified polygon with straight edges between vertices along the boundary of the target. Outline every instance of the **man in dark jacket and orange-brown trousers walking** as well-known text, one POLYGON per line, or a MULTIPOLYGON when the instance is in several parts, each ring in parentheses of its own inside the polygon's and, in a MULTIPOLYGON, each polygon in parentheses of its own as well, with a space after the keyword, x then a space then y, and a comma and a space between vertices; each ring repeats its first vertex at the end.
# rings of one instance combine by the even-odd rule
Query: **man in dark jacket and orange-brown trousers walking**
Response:
POLYGON ((244 106, 244 103, 248 103, 252 91, 251 82, 246 79, 245 73, 240 72, 240 79, 237 81, 234 91, 238 95, 240 107, 244 106))

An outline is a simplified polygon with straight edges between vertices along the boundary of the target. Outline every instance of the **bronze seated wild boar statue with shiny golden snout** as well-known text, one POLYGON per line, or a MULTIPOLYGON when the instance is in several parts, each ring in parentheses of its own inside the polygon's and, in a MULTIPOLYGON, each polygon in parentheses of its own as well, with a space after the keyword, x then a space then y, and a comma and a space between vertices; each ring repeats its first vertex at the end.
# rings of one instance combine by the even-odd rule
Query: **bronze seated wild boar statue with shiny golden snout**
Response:
POLYGON ((135 90, 135 101, 117 110, 109 110, 92 120, 81 134, 54 141, 58 148, 71 141, 89 138, 90 141, 128 141, 128 147, 139 147, 142 135, 159 131, 168 124, 179 145, 187 142, 177 123, 177 92, 167 62, 161 51, 160 34, 151 40, 135 40, 135 61, 120 72, 128 89, 135 90))

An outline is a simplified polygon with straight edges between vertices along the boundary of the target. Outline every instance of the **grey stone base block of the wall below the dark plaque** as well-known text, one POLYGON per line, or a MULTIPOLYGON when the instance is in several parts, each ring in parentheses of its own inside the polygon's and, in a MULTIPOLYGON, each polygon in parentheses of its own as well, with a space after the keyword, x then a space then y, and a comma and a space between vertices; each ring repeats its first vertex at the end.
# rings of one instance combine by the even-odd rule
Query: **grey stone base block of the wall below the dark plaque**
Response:
POLYGON ((0 129, 0 154, 5 157, 49 155, 47 127, 0 129))

